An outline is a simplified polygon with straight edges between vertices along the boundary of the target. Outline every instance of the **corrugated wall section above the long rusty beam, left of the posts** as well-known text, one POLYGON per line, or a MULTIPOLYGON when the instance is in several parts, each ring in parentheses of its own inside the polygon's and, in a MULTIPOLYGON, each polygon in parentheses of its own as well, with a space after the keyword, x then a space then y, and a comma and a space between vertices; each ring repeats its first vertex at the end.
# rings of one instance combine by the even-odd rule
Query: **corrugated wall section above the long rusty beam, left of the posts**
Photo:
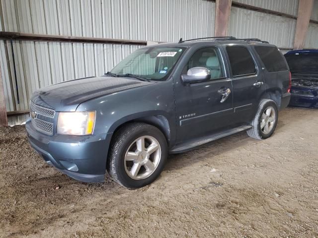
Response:
POLYGON ((207 0, 1 0, 5 31, 177 41, 212 35, 207 0))

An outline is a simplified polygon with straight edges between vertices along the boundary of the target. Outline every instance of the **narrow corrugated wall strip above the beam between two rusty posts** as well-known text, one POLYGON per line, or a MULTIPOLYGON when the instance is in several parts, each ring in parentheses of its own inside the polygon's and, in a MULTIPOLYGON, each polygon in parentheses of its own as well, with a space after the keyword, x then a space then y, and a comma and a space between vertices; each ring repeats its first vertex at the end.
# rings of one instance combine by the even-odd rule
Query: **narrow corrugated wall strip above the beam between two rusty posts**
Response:
POLYGON ((299 0, 233 0, 247 5, 257 6, 297 16, 299 0))

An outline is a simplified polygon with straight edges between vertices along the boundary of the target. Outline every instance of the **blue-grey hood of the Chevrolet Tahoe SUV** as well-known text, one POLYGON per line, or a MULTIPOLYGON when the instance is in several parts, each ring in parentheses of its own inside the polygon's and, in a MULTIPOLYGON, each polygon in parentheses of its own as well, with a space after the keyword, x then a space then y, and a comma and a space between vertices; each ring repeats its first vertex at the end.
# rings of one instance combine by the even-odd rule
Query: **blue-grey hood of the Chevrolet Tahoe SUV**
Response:
POLYGON ((89 99, 148 84, 153 82, 105 76, 81 78, 37 90, 31 101, 57 112, 72 112, 89 99))

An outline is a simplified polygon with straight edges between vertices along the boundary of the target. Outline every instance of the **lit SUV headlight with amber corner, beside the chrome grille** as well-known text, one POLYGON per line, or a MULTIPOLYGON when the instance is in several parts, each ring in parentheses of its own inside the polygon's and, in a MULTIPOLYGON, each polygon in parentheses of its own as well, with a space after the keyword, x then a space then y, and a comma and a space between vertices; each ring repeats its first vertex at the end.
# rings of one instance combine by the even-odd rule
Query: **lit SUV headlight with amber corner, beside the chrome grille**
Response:
POLYGON ((91 135, 96 112, 59 113, 57 133, 64 135, 91 135))

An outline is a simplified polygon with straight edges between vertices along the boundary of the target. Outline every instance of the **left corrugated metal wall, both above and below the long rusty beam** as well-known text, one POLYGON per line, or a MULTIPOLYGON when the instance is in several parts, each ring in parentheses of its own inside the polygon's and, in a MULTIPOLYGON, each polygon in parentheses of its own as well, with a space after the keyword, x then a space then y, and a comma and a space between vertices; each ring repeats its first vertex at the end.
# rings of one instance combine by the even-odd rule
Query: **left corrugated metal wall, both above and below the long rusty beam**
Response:
MULTIPOLYGON (((1 0, 3 31, 177 41, 213 36, 215 3, 206 0, 1 0)), ((27 110, 33 91, 102 75, 137 46, 0 41, 7 111, 27 110)))

